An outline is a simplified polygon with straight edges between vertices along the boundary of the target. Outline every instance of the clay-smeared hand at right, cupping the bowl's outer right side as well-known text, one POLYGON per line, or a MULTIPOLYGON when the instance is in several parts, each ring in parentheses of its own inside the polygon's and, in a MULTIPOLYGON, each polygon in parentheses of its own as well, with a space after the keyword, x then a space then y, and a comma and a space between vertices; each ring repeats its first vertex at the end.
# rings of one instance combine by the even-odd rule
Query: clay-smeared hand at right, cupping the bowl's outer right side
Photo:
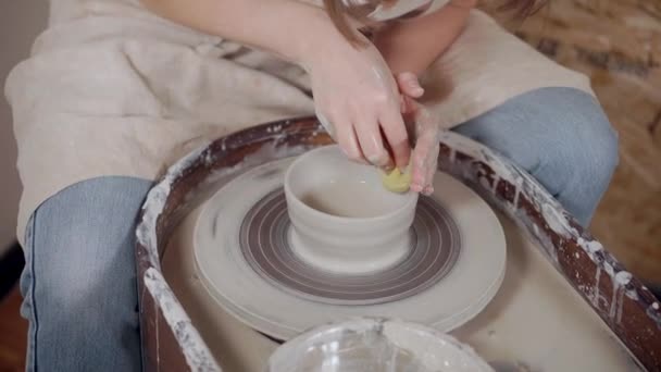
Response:
POLYGON ((438 165, 440 121, 415 100, 424 95, 415 74, 400 73, 396 80, 402 94, 402 114, 409 136, 415 141, 410 162, 411 190, 431 195, 438 165))

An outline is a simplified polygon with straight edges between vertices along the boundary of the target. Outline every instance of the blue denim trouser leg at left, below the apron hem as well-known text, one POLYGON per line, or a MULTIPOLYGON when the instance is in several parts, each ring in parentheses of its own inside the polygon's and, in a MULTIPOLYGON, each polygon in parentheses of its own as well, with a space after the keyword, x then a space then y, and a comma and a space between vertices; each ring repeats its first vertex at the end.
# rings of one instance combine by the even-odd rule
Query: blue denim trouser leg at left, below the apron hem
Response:
POLYGON ((103 177, 42 203, 26 230, 28 371, 139 371, 135 224, 151 182, 103 177))

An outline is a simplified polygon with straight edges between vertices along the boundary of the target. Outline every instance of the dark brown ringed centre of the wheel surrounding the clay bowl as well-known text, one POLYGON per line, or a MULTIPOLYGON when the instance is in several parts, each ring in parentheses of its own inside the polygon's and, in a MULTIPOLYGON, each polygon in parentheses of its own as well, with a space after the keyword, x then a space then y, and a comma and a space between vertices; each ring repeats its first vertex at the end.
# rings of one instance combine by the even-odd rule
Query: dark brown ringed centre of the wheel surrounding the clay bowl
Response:
POLYGON ((338 275, 311 266, 291 249, 285 196, 275 190, 246 215, 240 248, 250 266, 285 290, 334 305, 396 301, 424 290, 457 263, 461 238, 454 221, 423 198, 411 228, 411 251, 398 265, 371 275, 338 275))

